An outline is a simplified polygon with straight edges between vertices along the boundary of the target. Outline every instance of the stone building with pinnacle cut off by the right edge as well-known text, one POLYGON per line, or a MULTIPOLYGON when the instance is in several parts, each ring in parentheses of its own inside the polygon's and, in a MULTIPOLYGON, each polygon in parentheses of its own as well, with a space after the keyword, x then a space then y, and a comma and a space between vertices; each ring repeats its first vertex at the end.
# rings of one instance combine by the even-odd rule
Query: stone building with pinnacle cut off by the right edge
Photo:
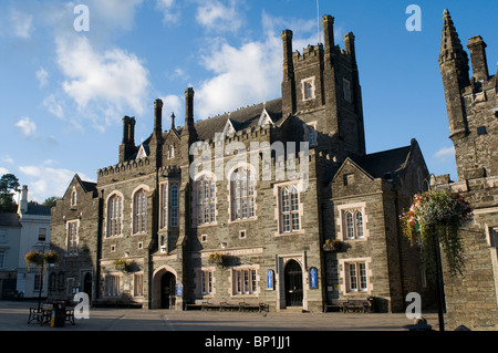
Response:
MULTIPOLYGON (((436 187, 460 193, 475 219, 461 231, 465 245, 463 276, 444 276, 447 324, 471 330, 498 329, 498 102, 497 75, 489 75, 486 43, 469 39, 473 76, 449 12, 444 11, 440 73, 455 145, 458 181, 448 175, 433 180, 436 187)), ((445 268, 444 268, 445 269, 445 268)))

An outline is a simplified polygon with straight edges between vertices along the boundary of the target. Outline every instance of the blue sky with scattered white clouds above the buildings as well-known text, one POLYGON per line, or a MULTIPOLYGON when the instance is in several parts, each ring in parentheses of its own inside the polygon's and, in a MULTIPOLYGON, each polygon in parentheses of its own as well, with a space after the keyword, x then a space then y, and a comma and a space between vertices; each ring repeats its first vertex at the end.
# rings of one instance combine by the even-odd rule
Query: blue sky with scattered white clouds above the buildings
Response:
MULTIPOLYGON (((496 73, 495 0, 320 1, 335 18, 335 43, 352 31, 367 153, 416 138, 429 170, 457 178, 437 55, 447 8, 463 44, 481 35, 496 73), (407 31, 409 4, 422 31, 407 31)), ((315 0, 2 0, 0 2, 0 174, 28 185, 30 199, 62 196, 74 174, 96 181, 117 163, 122 117, 135 142, 153 131, 163 98, 183 125, 193 86, 203 120, 281 96, 282 30, 301 51, 318 39, 315 0), (75 31, 77 4, 89 31, 75 31)))

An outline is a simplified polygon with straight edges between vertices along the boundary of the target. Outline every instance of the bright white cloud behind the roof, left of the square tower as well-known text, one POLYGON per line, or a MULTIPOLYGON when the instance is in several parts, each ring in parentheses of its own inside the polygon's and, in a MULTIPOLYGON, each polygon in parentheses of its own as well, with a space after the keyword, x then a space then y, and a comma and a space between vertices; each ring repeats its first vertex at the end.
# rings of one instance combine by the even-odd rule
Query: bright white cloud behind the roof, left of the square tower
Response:
POLYGON ((197 118, 281 96, 282 28, 299 29, 294 32, 294 49, 317 41, 317 24, 311 20, 287 21, 263 12, 261 25, 264 33, 261 41, 246 41, 241 46, 232 46, 222 39, 208 41, 211 45, 205 49, 201 64, 214 76, 196 90, 197 118))

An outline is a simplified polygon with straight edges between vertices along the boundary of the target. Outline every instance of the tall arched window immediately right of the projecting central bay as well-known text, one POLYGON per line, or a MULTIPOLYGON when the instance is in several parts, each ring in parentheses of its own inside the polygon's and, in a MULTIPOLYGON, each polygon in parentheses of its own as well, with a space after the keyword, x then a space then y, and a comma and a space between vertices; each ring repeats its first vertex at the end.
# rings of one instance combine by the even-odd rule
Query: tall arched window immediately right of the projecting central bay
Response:
POLYGON ((195 183, 196 203, 197 203, 197 224, 215 222, 216 209, 216 184, 211 177, 201 176, 195 183))

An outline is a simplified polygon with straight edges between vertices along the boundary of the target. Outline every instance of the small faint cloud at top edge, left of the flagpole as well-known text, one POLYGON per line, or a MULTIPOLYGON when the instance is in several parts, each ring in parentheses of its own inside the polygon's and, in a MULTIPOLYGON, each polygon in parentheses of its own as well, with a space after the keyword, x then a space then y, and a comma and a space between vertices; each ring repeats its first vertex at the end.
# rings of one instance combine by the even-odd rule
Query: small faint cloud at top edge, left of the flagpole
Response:
POLYGON ((237 9, 237 1, 229 0, 227 2, 227 4, 219 0, 200 2, 197 8, 196 20, 210 31, 238 31, 242 25, 242 17, 237 9))

